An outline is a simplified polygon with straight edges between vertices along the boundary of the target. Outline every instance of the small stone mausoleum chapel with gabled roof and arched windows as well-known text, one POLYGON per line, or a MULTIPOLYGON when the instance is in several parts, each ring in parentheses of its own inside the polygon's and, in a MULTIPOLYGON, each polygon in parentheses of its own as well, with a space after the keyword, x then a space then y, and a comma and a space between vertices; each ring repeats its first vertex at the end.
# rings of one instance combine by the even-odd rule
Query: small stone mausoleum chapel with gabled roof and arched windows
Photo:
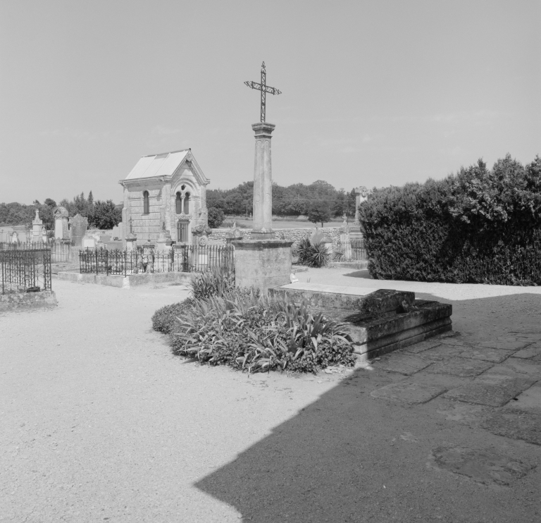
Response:
POLYGON ((173 241, 192 243, 192 229, 208 226, 209 182, 191 149, 142 156, 119 182, 125 234, 131 228, 137 242, 155 242, 168 231, 173 241))

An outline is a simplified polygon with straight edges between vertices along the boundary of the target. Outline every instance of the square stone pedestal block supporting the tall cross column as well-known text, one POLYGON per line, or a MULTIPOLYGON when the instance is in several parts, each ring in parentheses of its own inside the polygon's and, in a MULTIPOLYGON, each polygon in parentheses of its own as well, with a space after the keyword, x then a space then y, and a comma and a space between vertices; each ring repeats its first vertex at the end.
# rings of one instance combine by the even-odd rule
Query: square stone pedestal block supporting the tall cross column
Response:
POLYGON ((291 246, 287 240, 234 240, 235 285, 259 288, 267 293, 269 288, 285 285, 290 281, 291 246))

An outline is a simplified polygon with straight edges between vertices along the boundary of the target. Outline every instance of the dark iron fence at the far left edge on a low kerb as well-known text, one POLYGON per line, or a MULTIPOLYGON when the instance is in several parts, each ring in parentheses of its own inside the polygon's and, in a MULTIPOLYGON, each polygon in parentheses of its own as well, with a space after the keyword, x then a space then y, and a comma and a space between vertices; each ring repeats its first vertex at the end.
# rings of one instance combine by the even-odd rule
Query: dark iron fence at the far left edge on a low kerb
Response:
POLYGON ((50 249, 0 249, 2 294, 51 290, 50 249))

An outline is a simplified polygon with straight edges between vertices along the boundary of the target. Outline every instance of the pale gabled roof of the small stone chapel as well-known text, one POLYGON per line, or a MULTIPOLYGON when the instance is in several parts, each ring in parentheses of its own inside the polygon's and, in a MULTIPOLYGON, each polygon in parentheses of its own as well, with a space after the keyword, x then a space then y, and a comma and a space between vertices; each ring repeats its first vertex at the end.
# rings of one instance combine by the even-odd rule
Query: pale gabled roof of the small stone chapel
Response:
POLYGON ((199 164, 195 161, 192 155, 192 149, 141 156, 125 180, 173 176, 183 164, 185 164, 187 169, 192 171, 201 185, 207 185, 209 183, 210 180, 206 178, 199 164))

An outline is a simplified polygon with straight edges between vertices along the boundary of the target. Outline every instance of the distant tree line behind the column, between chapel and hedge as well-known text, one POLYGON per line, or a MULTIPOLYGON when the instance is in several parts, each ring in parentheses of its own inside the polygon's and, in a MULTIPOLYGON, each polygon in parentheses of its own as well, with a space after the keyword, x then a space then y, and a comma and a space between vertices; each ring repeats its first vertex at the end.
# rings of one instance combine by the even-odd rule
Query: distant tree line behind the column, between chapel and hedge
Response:
MULTIPOLYGON (((249 216, 254 201, 254 182, 244 182, 233 189, 209 189, 206 205, 226 216, 249 216)), ((335 189, 325 180, 310 185, 294 183, 282 187, 273 183, 273 215, 308 216, 313 223, 328 221, 336 216, 355 216, 355 192, 335 189)))

